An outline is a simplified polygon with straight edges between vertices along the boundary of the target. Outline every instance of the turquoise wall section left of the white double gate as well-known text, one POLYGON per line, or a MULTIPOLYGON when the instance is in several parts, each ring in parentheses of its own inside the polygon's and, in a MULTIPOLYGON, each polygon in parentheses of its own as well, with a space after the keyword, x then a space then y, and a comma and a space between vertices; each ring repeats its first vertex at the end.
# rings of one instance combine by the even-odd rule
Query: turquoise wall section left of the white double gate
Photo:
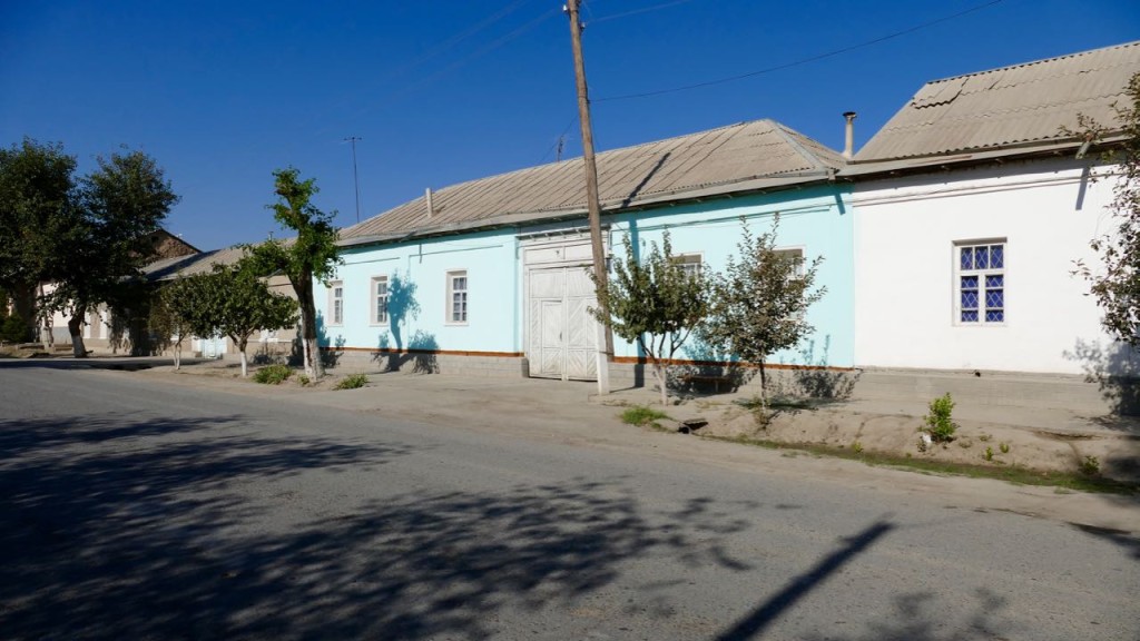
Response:
POLYGON ((344 323, 329 319, 329 295, 317 287, 321 346, 518 352, 519 279, 512 230, 347 250, 336 281, 344 287, 344 323), (467 323, 447 317, 448 273, 466 270, 467 323), (372 282, 386 276, 390 322, 372 323, 372 282), (394 295, 402 286, 406 297, 394 295), (407 300, 400 303, 397 299, 407 300))

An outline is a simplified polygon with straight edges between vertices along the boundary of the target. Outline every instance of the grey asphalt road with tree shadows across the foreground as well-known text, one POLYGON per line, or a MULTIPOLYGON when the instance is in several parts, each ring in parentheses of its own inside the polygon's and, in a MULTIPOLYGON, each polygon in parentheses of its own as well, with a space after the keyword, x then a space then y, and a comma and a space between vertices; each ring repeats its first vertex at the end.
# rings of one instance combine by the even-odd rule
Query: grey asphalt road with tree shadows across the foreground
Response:
POLYGON ((2 639, 1140 639, 1126 533, 140 374, 0 362, 0 501, 2 639))

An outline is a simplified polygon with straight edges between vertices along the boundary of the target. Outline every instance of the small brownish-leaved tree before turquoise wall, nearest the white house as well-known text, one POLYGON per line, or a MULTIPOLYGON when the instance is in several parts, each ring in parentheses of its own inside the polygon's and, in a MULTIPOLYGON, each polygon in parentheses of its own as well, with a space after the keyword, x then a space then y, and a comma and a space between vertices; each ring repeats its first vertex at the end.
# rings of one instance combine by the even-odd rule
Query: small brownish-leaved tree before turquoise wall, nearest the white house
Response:
POLYGON ((826 291, 812 290, 823 259, 806 263, 803 257, 776 251, 779 214, 772 219, 772 230, 759 236, 752 236, 746 221, 741 225, 740 257, 730 257, 725 270, 712 276, 711 310, 700 335, 759 370, 760 400, 766 404, 765 360, 814 331, 807 308, 826 291))

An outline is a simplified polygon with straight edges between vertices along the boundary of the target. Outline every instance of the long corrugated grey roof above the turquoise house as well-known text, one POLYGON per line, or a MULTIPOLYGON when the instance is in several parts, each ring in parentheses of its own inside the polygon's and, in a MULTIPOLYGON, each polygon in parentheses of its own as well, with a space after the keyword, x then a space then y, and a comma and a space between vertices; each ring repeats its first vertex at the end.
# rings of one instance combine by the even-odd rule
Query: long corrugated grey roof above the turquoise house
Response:
MULTIPOLYGON (((727 194, 757 179, 808 182, 844 165, 837 152, 771 120, 743 122, 597 154, 603 211, 686 194, 727 194)), ((529 222, 586 211, 581 159, 445 187, 341 230, 344 244, 480 226, 529 222)))

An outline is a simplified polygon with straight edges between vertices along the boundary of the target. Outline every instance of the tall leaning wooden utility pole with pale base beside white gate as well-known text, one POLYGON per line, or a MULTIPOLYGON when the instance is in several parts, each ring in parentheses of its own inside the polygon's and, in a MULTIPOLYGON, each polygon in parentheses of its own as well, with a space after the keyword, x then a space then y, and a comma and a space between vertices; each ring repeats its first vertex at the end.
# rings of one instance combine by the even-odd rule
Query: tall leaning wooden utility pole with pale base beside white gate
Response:
MULTIPOLYGON (((594 249, 594 276, 597 289, 606 286, 605 250, 602 248, 602 206, 597 202, 597 164, 594 162, 594 132, 589 124, 589 96, 586 89, 586 63, 581 56, 581 21, 579 0, 567 0, 570 16, 570 43, 573 48, 573 74, 578 82, 578 120, 581 122, 581 151, 586 161, 586 206, 589 209, 589 240, 594 249)), ((609 314, 603 297, 597 298, 603 316, 609 314)), ((610 359, 613 356, 613 333, 610 326, 597 324, 597 393, 610 393, 610 359)))

